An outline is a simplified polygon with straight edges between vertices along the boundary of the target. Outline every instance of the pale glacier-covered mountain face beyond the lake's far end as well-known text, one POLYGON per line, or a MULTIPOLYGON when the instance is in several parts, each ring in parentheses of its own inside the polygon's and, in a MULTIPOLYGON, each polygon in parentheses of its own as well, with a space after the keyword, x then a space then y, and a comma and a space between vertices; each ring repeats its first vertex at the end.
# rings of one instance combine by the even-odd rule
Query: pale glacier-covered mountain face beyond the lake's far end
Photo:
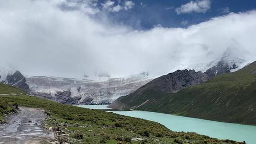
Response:
POLYGON ((106 81, 46 76, 26 76, 30 93, 73 105, 110 104, 151 81, 146 72, 106 81))

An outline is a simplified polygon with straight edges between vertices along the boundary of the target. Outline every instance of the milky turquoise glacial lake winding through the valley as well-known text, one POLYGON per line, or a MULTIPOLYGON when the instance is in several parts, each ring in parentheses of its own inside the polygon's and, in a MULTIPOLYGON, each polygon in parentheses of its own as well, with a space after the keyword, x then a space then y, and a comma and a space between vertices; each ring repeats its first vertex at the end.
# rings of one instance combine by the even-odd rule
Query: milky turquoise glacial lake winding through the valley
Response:
MULTIPOLYGON (((82 108, 108 109, 108 105, 85 105, 82 108)), ((147 111, 111 111, 120 115, 139 117, 163 124, 172 131, 195 132, 218 139, 246 141, 256 144, 256 126, 223 123, 191 117, 174 116, 147 111)))

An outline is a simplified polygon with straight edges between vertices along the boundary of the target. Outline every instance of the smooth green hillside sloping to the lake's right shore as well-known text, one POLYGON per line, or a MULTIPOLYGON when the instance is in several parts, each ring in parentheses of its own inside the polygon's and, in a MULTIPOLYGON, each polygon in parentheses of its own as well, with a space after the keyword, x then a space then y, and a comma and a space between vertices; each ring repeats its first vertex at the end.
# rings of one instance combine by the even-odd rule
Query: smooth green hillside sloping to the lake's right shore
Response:
MULTIPOLYGON (((120 101, 126 103, 123 98, 120 101)), ((256 125, 256 62, 204 84, 149 99, 137 109, 256 125)))

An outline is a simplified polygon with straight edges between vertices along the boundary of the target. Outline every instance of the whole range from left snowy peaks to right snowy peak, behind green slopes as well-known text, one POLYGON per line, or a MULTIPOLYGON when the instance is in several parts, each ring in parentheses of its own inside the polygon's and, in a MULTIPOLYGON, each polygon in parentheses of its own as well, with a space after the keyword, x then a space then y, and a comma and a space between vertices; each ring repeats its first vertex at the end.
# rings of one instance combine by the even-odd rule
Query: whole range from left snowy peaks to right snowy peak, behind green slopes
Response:
POLYGON ((136 101, 138 93, 140 97, 155 97, 174 93, 183 88, 204 83, 222 73, 237 71, 246 65, 247 61, 238 58, 234 52, 234 49, 228 48, 216 64, 214 62, 209 64, 212 66, 205 72, 183 69, 154 80, 154 77, 149 76, 148 72, 121 78, 113 78, 107 72, 100 72, 91 80, 87 74, 84 74, 81 79, 23 76, 17 70, 0 68, 0 81, 25 90, 32 95, 66 104, 110 104, 128 94, 130 97, 132 96, 131 101, 136 101))

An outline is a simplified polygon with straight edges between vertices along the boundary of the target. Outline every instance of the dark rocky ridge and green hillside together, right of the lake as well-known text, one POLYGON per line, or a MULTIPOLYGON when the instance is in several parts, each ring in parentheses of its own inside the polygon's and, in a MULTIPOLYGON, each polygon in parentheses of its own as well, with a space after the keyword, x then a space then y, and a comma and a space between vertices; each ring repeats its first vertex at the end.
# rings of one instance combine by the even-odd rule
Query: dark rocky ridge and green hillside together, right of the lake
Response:
MULTIPOLYGON (((221 63, 223 61, 220 61, 218 65, 221 63)), ((236 66, 232 68, 237 69, 236 66)), ((204 74, 211 70, 216 69, 210 68, 204 74)), ((256 125, 256 62, 236 72, 230 73, 230 71, 222 71, 224 73, 219 73, 202 84, 194 82, 200 77, 191 79, 191 73, 187 74, 188 72, 197 73, 192 70, 169 73, 127 96, 120 97, 109 107, 256 125), (186 75, 184 86, 189 85, 189 87, 180 86, 179 73, 186 75), (170 88, 178 87, 179 91, 162 87, 161 85, 166 85, 166 81, 169 81, 169 85, 172 83, 172 86, 175 86, 170 88)))

